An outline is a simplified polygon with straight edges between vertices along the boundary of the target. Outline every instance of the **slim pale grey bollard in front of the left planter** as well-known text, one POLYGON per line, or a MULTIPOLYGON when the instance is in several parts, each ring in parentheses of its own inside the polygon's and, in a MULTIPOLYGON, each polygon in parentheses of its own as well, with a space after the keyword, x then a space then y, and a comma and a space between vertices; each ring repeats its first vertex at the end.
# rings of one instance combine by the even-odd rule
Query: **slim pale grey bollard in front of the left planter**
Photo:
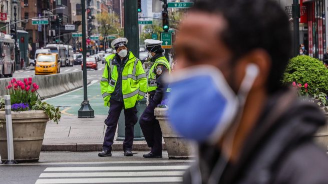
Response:
POLYGON ((14 138, 13 138, 13 122, 12 122, 12 106, 10 95, 5 95, 5 110, 6 110, 6 128, 7 128, 7 147, 8 160, 4 164, 16 164, 14 160, 14 138))

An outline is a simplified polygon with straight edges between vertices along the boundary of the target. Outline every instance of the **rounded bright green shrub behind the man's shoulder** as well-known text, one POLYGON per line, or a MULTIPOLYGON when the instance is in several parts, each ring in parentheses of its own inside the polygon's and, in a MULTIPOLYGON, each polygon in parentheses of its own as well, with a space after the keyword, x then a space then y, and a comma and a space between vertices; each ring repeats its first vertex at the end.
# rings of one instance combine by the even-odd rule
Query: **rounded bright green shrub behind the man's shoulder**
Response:
MULTIPOLYGON (((289 60, 282 82, 286 85, 308 83, 308 94, 316 96, 320 93, 328 94, 328 69, 316 58, 299 55, 289 60)), ((305 88, 302 88, 304 93, 305 88)))

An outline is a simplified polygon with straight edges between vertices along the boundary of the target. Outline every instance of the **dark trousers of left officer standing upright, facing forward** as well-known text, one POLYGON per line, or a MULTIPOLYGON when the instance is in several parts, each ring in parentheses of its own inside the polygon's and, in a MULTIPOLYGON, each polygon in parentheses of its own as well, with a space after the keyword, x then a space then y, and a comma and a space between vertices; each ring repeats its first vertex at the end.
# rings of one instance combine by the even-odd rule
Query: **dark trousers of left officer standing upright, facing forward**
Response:
MULTIPOLYGON (((108 117, 105 120, 105 123, 107 125, 105 138, 104 138, 104 144, 103 149, 104 150, 112 150, 112 144, 114 141, 114 136, 117 128, 117 123, 122 111, 122 108, 124 108, 124 102, 123 101, 116 101, 116 100, 110 100, 110 107, 108 111, 108 117)), ((124 117, 125 117, 125 139, 123 142, 123 150, 125 151, 126 148, 132 149, 133 144, 133 130, 134 125, 138 121, 137 116, 137 107, 134 106, 132 108, 124 108, 124 117)))

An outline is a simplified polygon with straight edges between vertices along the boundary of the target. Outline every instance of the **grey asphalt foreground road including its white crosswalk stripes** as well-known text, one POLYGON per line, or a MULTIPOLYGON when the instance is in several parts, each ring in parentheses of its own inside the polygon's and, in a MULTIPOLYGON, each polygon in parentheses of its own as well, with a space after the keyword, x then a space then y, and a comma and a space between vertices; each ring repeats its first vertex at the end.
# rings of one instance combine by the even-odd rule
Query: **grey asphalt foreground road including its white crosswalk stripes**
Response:
POLYGON ((192 164, 192 160, 145 159, 144 153, 125 157, 115 151, 104 158, 97 152, 42 152, 39 163, 0 164, 0 183, 181 183, 192 164))

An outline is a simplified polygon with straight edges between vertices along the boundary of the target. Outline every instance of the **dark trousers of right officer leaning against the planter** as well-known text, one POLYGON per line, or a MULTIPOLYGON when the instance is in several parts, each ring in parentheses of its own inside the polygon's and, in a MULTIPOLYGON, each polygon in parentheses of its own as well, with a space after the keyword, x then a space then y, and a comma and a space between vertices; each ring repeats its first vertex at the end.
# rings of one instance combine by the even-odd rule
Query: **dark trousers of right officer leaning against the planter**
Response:
POLYGON ((148 106, 140 117, 139 123, 147 145, 151 147, 151 152, 156 155, 162 155, 162 130, 154 115, 154 109, 157 105, 150 99, 148 106))

